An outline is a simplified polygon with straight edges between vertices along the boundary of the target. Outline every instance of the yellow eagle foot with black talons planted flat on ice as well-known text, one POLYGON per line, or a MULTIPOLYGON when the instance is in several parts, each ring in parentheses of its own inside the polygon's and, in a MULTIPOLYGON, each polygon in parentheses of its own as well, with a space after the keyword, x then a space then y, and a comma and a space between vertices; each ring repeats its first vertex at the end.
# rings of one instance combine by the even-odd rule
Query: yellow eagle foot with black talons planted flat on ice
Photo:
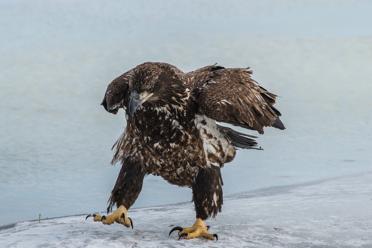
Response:
POLYGON ((210 226, 206 226, 204 221, 200 218, 196 219, 194 225, 192 227, 188 227, 188 228, 182 228, 180 226, 176 226, 175 228, 173 228, 170 233, 169 233, 169 236, 172 232, 178 230, 178 236, 180 238, 184 238, 184 239, 192 239, 192 238, 197 238, 197 237, 204 237, 204 238, 207 238, 207 239, 211 239, 211 240, 214 240, 214 238, 216 238, 216 241, 218 240, 218 236, 217 234, 211 234, 211 233, 208 233, 208 229, 210 228, 210 226))

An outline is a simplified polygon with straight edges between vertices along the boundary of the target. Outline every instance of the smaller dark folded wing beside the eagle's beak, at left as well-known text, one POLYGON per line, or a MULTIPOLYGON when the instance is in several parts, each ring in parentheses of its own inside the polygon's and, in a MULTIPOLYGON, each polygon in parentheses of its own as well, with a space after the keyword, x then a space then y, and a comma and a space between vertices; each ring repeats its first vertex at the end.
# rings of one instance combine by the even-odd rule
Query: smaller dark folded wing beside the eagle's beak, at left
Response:
POLYGON ((129 78, 132 76, 133 70, 134 68, 115 78, 107 86, 105 97, 103 97, 101 103, 107 112, 116 115, 119 109, 123 107, 124 99, 129 99, 131 93, 128 82, 129 78))

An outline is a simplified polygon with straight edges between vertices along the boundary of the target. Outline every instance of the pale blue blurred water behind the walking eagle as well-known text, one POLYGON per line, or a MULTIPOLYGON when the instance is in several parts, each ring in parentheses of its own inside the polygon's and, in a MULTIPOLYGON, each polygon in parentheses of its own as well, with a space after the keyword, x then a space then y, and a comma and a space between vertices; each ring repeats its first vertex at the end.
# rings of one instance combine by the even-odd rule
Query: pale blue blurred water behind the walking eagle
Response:
MULTIPOLYGON (((238 151, 225 195, 371 171, 370 13, 367 1, 1 1, 0 225, 106 208, 125 118, 99 104, 145 61, 250 66, 282 97, 287 129, 238 151)), ((134 207, 188 200, 148 176, 134 207)))

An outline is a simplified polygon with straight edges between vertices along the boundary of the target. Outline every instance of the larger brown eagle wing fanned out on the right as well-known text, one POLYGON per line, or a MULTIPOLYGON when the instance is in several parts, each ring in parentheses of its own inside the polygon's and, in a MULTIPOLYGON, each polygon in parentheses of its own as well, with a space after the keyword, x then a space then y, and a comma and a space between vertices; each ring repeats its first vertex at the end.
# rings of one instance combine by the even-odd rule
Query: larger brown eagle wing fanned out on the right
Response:
POLYGON ((212 69, 212 75, 198 87, 199 110, 218 122, 261 134, 266 126, 285 129, 279 119, 280 112, 273 107, 276 95, 259 86, 248 69, 212 69))

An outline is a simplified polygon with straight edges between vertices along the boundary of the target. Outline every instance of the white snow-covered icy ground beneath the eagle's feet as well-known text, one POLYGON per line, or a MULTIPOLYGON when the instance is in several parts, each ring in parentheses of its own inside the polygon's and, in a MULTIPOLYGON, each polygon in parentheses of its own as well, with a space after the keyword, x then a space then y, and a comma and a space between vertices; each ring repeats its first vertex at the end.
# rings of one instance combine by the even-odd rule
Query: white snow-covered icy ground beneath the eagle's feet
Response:
POLYGON ((225 197, 208 220, 218 241, 177 240, 194 222, 192 203, 130 209, 134 230, 86 214, 0 227, 0 247, 372 247, 372 172, 225 197))

